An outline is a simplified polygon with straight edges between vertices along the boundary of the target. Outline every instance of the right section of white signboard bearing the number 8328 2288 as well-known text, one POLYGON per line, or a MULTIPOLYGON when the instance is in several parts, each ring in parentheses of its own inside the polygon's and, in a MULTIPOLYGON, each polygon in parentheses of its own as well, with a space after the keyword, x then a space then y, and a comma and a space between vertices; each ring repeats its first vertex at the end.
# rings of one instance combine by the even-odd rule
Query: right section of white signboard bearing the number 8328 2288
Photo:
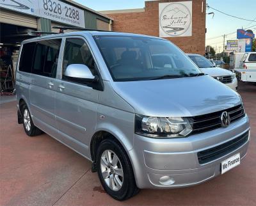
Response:
POLYGON ((58 0, 39 0, 40 16, 84 28, 83 10, 58 0))

